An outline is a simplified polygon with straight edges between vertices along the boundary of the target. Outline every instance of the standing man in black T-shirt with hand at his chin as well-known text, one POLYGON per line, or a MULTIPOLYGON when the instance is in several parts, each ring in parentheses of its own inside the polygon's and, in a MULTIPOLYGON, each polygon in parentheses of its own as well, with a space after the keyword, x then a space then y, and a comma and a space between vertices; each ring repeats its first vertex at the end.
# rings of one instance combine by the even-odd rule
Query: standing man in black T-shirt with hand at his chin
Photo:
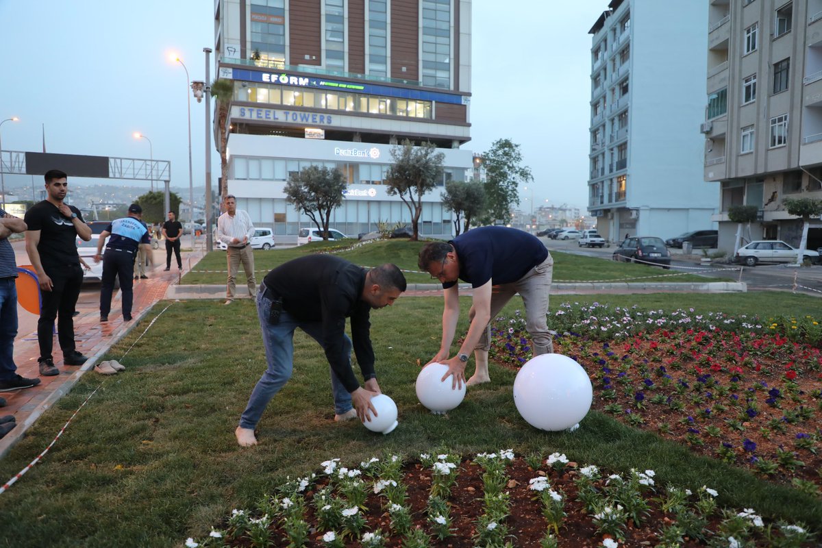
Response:
POLYGON ((76 238, 91 240, 91 227, 73 205, 63 200, 68 191, 66 173, 50 169, 45 174, 47 197, 25 212, 25 251, 35 267, 40 285, 40 319, 37 340, 40 346, 40 375, 59 375, 52 359, 54 320, 58 318, 58 341, 63 363, 81 366, 88 359, 76 350, 74 307, 80 297, 83 269, 77 255, 76 238))

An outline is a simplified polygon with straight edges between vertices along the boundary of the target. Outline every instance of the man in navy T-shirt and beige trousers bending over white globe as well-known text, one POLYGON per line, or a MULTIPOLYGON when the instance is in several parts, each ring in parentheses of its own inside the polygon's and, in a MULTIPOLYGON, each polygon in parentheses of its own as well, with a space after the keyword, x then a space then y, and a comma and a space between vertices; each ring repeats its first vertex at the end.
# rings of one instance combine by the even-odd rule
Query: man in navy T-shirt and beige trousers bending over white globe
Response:
POLYGON ((547 325, 553 264, 543 242, 516 228, 474 228, 450 242, 431 242, 423 247, 419 252, 419 268, 440 280, 445 289, 442 342, 439 352, 428 362, 438 361, 448 366, 443 380, 453 373, 454 385, 462 385, 465 365, 472 350, 477 367, 466 385, 491 380, 488 376, 489 322, 518 292, 525 305, 525 329, 531 335, 533 355, 553 352, 547 325), (450 357, 459 320, 458 279, 470 283, 473 288, 473 306, 469 312, 471 326, 459 352, 450 357))

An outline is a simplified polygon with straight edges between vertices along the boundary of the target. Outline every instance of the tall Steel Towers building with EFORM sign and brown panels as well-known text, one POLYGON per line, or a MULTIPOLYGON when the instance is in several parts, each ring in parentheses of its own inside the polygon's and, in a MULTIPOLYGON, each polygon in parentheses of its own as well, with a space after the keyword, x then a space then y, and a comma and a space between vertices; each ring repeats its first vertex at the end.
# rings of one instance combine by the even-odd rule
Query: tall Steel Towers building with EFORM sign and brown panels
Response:
POLYGON ((339 168, 348 187, 330 227, 354 236, 410 223, 384 178, 409 139, 445 154, 423 197, 420 233, 449 237, 445 182, 471 177, 470 0, 218 0, 215 52, 233 81, 229 192, 258 226, 295 241, 311 219, 284 193, 308 165, 339 168))

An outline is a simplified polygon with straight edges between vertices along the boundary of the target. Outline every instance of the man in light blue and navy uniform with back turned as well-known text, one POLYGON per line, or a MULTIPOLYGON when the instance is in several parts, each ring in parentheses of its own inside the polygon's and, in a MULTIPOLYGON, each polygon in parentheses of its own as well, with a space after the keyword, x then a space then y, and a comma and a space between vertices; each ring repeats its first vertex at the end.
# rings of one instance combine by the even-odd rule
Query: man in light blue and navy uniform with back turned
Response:
POLYGON ((100 233, 97 240, 97 254, 95 263, 103 259, 103 288, 100 289, 100 321, 109 321, 111 311, 111 294, 114 291, 114 279, 120 279, 120 292, 122 294, 122 320, 132 320, 132 302, 134 299, 134 282, 132 281, 132 269, 138 250, 145 251, 145 256, 154 264, 151 255, 151 237, 149 229, 145 227, 140 218, 143 209, 139 204, 128 206, 128 217, 114 219, 105 230, 100 233), (103 253, 103 244, 107 237, 111 235, 109 243, 103 253), (101 257, 102 256, 102 257, 101 257))

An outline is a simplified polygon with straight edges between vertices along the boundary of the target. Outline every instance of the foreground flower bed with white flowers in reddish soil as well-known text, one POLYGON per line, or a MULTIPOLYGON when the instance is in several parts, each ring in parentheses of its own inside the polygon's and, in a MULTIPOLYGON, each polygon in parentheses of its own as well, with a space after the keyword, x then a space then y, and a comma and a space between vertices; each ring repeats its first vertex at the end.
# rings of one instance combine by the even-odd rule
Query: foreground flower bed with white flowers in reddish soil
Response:
POLYGON ((801 524, 719 509, 718 493, 663 485, 651 470, 608 474, 565 455, 339 459, 234 510, 196 546, 810 546, 801 524))

